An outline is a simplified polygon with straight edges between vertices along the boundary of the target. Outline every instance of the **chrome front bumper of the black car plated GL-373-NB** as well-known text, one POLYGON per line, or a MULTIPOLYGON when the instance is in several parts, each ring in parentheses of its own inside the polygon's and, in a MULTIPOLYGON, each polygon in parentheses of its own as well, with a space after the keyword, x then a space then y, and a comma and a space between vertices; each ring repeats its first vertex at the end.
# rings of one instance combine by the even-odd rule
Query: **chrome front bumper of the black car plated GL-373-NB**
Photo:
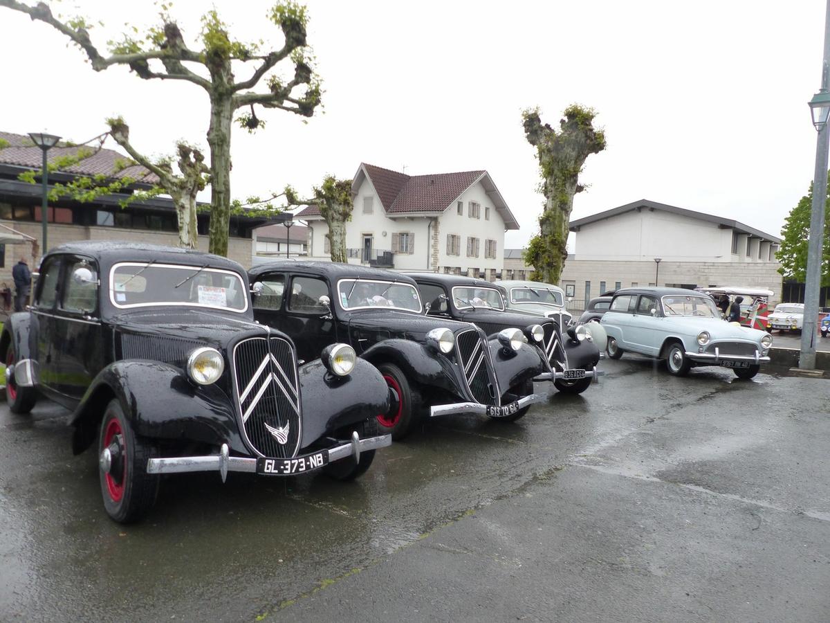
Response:
MULTIPOLYGON (((354 432, 349 443, 340 444, 329 449, 329 464, 340 459, 348 459, 350 456, 354 457, 355 462, 359 463, 361 452, 386 448, 390 445, 392 445, 391 434, 382 434, 378 437, 360 439, 357 432, 354 432)), ((309 473, 311 471, 314 471, 314 468, 306 469, 303 473, 309 473)), ((231 456, 227 444, 222 444, 219 454, 171 457, 169 459, 149 459, 147 461, 147 473, 184 472, 219 472, 224 483, 228 472, 256 473, 256 459, 231 456)))

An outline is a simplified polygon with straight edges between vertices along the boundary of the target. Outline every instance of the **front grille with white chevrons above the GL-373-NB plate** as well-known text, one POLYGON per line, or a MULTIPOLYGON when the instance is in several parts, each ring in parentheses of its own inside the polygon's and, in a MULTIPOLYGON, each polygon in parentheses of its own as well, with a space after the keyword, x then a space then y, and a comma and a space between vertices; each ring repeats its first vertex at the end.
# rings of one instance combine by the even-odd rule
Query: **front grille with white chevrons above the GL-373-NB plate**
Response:
POLYGON ((233 349, 242 429, 251 448, 287 459, 300 449, 302 419, 294 351, 281 337, 251 337, 233 349))

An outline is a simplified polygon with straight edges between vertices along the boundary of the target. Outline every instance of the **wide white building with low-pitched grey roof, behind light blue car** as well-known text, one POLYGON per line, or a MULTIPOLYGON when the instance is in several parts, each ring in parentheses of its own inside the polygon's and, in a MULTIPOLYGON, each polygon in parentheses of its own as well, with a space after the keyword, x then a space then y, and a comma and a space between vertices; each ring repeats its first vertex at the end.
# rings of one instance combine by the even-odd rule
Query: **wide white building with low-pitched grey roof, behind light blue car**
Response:
MULTIPOLYGON (((730 218, 642 199, 571 221, 570 230, 576 253, 559 282, 574 299, 569 309, 619 287, 655 284, 764 287, 775 293, 772 302, 781 300, 781 239, 730 218)), ((509 251, 507 278, 530 275, 520 250, 509 251)))

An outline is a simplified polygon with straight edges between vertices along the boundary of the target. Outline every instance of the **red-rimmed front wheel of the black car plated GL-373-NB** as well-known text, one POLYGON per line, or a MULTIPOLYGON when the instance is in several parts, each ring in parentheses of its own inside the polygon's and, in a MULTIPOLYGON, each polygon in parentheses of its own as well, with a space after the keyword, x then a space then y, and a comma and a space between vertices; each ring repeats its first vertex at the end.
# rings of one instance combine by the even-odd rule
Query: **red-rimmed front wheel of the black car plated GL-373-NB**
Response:
POLYGON ((130 523, 153 508, 159 493, 159 475, 147 473, 147 461, 158 455, 154 444, 134 433, 120 401, 110 400, 98 435, 101 496, 110 518, 119 523, 130 523), (104 471, 101 460, 107 448, 112 455, 109 472, 104 471))

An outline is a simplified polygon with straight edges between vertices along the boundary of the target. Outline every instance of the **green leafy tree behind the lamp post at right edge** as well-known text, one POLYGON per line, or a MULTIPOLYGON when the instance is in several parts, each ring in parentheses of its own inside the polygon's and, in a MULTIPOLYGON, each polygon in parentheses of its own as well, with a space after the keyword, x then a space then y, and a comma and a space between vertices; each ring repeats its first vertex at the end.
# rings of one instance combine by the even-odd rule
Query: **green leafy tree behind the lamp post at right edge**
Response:
MULTIPOLYGON (((828 176, 830 179, 830 176, 828 176)), ((830 190, 830 184, 828 184, 830 190)), ((779 272, 785 279, 806 281, 807 247, 810 238, 810 213, 813 209, 813 184, 808 193, 790 211, 782 231, 781 247, 775 257, 781 262, 779 272)), ((830 286, 830 194, 824 200, 824 243, 822 286, 830 286)))

